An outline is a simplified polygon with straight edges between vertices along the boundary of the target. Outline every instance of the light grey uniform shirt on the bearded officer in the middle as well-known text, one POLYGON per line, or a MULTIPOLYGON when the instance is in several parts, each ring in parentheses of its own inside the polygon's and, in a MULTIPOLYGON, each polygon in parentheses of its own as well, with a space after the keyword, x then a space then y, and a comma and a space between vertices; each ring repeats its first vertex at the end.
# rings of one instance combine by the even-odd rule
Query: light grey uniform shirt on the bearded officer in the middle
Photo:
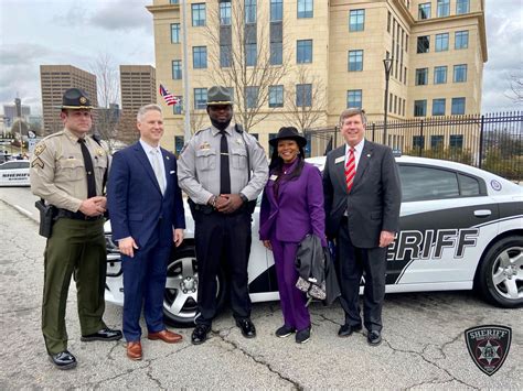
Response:
MULTIPOLYGON (((226 129, 231 193, 256 199, 268 180, 268 162, 263 146, 246 133, 238 133, 233 124, 226 129), (247 149, 249 164, 247 164, 247 149), (248 178, 248 165, 252 175, 248 178)), ((205 205, 213 195, 220 195, 220 130, 210 127, 194 134, 178 159, 178 183, 196 204, 205 205)))

